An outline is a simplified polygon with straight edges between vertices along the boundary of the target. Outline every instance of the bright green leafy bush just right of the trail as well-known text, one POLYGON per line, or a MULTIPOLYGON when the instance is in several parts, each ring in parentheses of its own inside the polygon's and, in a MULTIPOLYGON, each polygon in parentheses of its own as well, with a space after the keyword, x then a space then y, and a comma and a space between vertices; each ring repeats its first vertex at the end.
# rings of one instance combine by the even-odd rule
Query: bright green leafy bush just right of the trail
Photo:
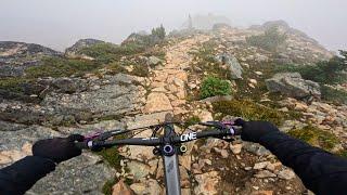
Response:
POLYGON ((216 95, 230 95, 231 88, 228 80, 223 80, 217 77, 207 77, 203 80, 200 95, 201 99, 206 99, 216 95))

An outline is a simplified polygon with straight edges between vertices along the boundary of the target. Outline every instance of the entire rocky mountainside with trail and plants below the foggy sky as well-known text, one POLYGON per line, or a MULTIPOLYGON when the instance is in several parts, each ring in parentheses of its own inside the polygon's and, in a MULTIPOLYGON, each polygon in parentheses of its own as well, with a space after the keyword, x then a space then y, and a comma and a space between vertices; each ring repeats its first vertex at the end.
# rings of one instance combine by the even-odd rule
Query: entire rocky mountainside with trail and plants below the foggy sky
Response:
MULTIPOLYGON (((166 113, 195 130, 196 121, 268 120, 345 156, 347 53, 327 51, 283 21, 247 29, 227 23, 190 17, 181 30, 159 26, 131 34, 121 44, 81 39, 65 53, 0 42, 0 167, 30 155, 40 139, 155 125, 166 113)), ((183 194, 306 192, 258 144, 209 139, 187 146, 180 157, 183 194)), ((30 192, 163 194, 162 159, 152 150, 86 152, 30 192)))

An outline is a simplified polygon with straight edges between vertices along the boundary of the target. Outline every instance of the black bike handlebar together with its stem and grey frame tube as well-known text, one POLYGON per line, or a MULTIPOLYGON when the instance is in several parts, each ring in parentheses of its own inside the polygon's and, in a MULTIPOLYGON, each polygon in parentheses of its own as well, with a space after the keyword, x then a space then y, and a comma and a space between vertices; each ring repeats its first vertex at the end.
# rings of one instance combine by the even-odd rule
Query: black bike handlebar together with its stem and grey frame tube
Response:
MULTIPOLYGON (((220 122, 208 121, 197 122, 196 125, 205 126, 210 129, 203 131, 191 131, 184 134, 177 134, 174 125, 181 122, 168 121, 170 116, 166 116, 166 121, 156 126, 143 127, 138 129, 128 130, 113 130, 104 133, 97 132, 92 135, 85 136, 83 142, 78 142, 76 145, 79 148, 87 148, 99 151, 116 145, 143 145, 154 146, 153 154, 163 157, 165 186, 167 195, 180 195, 180 169, 178 155, 187 152, 187 146, 181 143, 194 141, 203 138, 217 138, 224 141, 233 141, 232 136, 241 134, 242 128, 234 126, 233 121, 220 122), (168 120, 167 120, 168 119, 168 120), (152 136, 150 138, 130 138, 130 139, 116 139, 116 135, 128 133, 131 131, 146 130, 151 128, 152 136), (164 135, 156 136, 159 130, 164 130, 164 135), (114 140, 111 140, 114 138, 114 140)), ((189 123, 185 123, 189 125, 189 123)), ((188 128, 189 129, 189 128, 188 128)), ((133 135, 133 134, 132 134, 133 135)))

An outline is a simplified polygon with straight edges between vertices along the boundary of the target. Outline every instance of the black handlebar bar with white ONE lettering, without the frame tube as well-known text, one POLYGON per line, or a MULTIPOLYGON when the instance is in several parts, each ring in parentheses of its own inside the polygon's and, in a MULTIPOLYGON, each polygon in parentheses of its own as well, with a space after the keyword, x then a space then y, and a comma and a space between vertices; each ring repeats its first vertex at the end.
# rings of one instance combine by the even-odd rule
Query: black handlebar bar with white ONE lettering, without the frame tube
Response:
MULTIPOLYGON (((167 125, 169 123, 160 123, 152 127, 164 127, 167 125)), ((174 135, 174 136, 130 138, 130 139, 107 141, 106 139, 113 136, 114 134, 117 134, 117 133, 120 134, 129 131, 129 130, 124 130, 124 131, 116 130, 116 131, 108 131, 105 133, 99 133, 95 136, 95 139, 94 138, 87 139, 83 142, 77 142, 76 146, 85 150, 93 150, 93 148, 100 148, 100 147, 107 148, 116 145, 158 146, 158 145, 165 145, 165 144, 180 144, 180 143, 185 143, 185 142, 190 142, 190 141, 203 139, 203 138, 217 138, 217 139, 228 141, 228 139, 226 139, 227 136, 240 135, 242 131, 240 127, 231 126, 232 123, 227 123, 229 125, 227 127, 226 122, 222 123, 218 121, 211 121, 211 122, 198 122, 198 125, 213 127, 214 129, 204 130, 200 132, 188 132, 181 135, 174 135), (105 136, 105 134, 110 134, 110 135, 105 136), (102 138, 102 139, 98 139, 98 138, 102 138)))

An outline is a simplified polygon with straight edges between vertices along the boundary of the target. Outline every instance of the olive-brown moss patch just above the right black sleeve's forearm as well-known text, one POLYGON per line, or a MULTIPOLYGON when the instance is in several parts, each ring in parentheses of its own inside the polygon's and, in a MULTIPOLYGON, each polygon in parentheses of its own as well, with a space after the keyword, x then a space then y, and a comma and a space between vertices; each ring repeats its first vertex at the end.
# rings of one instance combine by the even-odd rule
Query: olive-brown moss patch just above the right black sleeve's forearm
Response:
POLYGON ((314 126, 295 129, 290 131, 288 134, 326 151, 332 151, 334 146, 339 143, 333 133, 321 130, 314 126))

